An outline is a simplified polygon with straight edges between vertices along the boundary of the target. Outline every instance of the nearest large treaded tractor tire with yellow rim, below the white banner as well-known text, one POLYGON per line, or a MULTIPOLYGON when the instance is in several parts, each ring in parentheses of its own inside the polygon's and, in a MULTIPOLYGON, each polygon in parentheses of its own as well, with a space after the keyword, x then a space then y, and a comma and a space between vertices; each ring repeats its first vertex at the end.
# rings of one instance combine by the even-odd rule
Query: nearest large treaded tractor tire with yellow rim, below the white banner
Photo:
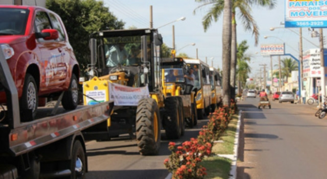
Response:
POLYGON ((160 113, 156 100, 141 99, 136 111, 136 140, 142 155, 159 154, 160 130, 160 113))

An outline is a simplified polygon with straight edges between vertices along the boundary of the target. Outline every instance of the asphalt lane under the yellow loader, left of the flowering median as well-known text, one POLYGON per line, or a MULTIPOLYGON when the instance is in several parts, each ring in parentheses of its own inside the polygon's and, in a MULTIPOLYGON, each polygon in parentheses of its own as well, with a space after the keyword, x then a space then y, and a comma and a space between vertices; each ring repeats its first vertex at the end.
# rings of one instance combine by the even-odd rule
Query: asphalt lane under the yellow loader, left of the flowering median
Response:
POLYGON ((197 137, 200 128, 208 120, 198 121, 193 129, 186 129, 184 136, 178 140, 166 140, 162 131, 160 153, 157 156, 142 156, 138 152, 135 140, 116 138, 112 141, 87 142, 88 170, 86 179, 165 179, 168 171, 163 165, 168 158, 170 141, 180 144, 197 137))

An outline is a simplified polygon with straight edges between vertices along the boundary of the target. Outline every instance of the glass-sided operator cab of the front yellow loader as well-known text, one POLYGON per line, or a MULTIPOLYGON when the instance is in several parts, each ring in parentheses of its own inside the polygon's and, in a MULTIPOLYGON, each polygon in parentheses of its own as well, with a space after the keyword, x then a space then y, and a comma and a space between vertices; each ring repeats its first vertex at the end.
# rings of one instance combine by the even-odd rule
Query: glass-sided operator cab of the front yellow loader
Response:
POLYGON ((106 30, 93 34, 89 76, 130 87, 161 87, 162 37, 156 29, 106 30))

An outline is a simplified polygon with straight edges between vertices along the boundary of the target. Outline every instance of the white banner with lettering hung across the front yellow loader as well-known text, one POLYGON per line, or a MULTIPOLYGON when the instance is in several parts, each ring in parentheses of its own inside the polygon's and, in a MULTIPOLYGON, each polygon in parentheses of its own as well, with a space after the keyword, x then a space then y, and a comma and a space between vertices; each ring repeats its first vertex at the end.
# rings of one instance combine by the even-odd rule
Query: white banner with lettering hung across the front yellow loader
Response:
POLYGON ((148 87, 133 88, 109 83, 109 100, 116 106, 137 106, 140 99, 150 97, 148 87))

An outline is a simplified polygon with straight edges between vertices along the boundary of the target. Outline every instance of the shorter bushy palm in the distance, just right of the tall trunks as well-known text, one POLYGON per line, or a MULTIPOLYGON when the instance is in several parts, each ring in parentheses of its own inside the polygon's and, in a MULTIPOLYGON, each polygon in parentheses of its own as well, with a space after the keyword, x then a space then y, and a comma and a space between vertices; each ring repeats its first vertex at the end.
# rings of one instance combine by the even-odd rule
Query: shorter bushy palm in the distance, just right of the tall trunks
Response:
POLYGON ((247 62, 250 61, 250 56, 245 52, 248 50, 249 45, 247 45, 247 41, 242 41, 241 44, 237 45, 237 80, 238 80, 238 91, 237 93, 241 93, 241 88, 245 87, 246 79, 249 78, 248 74, 251 73, 251 67, 247 62))

